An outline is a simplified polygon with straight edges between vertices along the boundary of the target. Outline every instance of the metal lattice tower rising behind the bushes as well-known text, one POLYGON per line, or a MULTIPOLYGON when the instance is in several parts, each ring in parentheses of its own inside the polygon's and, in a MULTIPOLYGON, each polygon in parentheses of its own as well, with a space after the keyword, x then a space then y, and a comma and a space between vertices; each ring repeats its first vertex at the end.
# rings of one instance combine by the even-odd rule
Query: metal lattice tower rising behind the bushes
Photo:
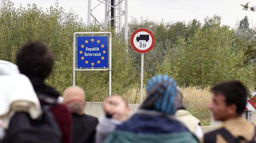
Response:
POLYGON ((117 32, 128 40, 128 0, 95 0, 98 1, 94 8, 91 8, 91 0, 88 0, 88 15, 87 25, 90 25, 91 16, 100 25, 107 27, 109 24, 115 26, 117 32), (100 23, 99 20, 93 15, 93 10, 100 4, 105 4, 105 20, 100 23), (123 10, 122 7, 125 7, 123 10), (124 17, 124 21, 123 18, 124 17))

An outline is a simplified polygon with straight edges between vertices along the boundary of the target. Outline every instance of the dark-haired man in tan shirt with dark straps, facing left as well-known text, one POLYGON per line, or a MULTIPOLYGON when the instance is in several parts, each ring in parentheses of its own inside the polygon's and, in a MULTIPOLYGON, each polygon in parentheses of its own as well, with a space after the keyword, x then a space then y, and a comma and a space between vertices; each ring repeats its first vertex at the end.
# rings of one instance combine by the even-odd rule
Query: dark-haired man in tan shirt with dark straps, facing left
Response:
POLYGON ((209 104, 222 128, 204 135, 204 143, 255 143, 255 127, 242 117, 247 102, 247 89, 240 81, 227 81, 211 89, 209 104))

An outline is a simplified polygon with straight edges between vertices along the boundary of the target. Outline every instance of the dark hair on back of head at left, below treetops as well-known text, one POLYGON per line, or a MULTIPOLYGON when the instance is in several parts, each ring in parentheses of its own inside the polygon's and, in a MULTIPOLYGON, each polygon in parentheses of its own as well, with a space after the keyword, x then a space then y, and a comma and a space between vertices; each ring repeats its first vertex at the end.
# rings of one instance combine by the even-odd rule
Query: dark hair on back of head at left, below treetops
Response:
POLYGON ((51 73, 54 64, 53 53, 41 41, 30 41, 21 46, 16 60, 20 73, 42 80, 51 73))

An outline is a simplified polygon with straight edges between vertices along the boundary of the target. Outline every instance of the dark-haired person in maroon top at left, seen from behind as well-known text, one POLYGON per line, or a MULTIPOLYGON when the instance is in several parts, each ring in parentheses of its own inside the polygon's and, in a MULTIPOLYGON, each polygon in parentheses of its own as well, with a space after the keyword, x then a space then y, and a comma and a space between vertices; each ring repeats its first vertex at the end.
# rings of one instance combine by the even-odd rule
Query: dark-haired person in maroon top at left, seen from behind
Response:
POLYGON ((57 104, 60 96, 57 90, 45 84, 46 77, 53 69, 53 53, 45 43, 31 41, 20 47, 16 60, 20 73, 26 75, 33 84, 41 105, 52 105, 50 111, 62 132, 63 143, 71 143, 71 113, 65 105, 57 104))

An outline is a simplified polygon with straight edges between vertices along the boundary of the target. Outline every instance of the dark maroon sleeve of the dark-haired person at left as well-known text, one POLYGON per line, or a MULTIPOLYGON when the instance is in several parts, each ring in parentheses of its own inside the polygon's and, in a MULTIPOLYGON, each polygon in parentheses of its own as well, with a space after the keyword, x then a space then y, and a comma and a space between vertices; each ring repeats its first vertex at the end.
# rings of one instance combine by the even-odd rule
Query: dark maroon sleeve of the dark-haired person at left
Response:
POLYGON ((72 137, 72 115, 64 104, 55 105, 51 108, 51 112, 61 129, 63 135, 63 143, 71 143, 72 137))

